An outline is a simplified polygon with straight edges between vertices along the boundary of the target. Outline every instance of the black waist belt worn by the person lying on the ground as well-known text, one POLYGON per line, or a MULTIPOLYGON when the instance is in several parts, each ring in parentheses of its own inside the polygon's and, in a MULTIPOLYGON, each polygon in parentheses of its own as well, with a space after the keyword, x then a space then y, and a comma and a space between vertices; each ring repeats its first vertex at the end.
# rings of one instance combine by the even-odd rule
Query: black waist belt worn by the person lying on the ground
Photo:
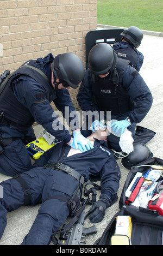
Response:
POLYGON ((67 174, 70 174, 74 178, 76 178, 80 183, 84 183, 84 177, 82 174, 79 174, 76 170, 73 170, 70 166, 65 165, 63 163, 47 163, 43 166, 44 168, 52 168, 54 170, 64 171, 67 174))

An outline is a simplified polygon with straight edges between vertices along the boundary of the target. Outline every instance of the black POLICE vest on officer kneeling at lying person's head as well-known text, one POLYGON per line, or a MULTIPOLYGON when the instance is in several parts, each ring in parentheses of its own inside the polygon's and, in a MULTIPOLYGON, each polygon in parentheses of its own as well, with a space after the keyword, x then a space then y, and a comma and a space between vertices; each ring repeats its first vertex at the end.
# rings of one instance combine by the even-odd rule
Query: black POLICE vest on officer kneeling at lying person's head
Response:
POLYGON ((99 110, 111 111, 111 115, 121 115, 133 110, 133 102, 126 89, 122 87, 123 71, 129 63, 118 59, 116 79, 114 79, 115 70, 105 78, 92 75, 93 104, 97 105, 99 110))

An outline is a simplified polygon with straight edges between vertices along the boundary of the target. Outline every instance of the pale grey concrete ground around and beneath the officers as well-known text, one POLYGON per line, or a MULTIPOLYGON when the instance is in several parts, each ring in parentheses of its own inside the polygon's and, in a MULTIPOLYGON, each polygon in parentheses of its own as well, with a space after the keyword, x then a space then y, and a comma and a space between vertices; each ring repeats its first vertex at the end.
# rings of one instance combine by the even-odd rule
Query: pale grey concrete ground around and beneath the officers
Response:
MULTIPOLYGON (((103 29, 103 28, 98 28, 103 29)), ((106 27, 104 28, 106 29, 106 27)), ((145 34, 142 40, 142 44, 139 50, 145 56, 143 67, 141 68, 140 74, 146 81, 146 84, 150 88, 153 94, 153 105, 151 110, 148 112, 145 119, 139 124, 143 127, 153 130, 156 132, 154 138, 148 142, 147 146, 153 152, 154 157, 159 157, 163 159, 163 37, 160 34, 145 34)), ((36 136, 39 134, 42 127, 35 126, 34 130, 36 136)), ((120 188, 118 189, 118 198, 120 198, 124 182, 128 175, 129 170, 123 168, 120 160, 117 160, 120 165, 122 177, 120 180, 120 188)), ((7 180, 8 176, 0 174, 0 181, 7 180)), ((98 193, 99 195, 99 193, 98 193)), ((7 215, 8 223, 4 231, 0 245, 20 245, 23 241, 23 237, 27 235, 30 227, 32 226, 34 219, 37 215, 37 211, 40 205, 36 206, 22 206, 20 209, 9 212, 7 215)), ((105 218, 102 222, 96 224, 97 234, 87 236, 86 245, 93 245, 93 243, 103 234, 106 225, 110 222, 111 218, 119 210, 118 201, 106 210, 105 218)), ((89 219, 86 219, 84 226, 90 227, 91 223, 89 219)), ((52 245, 52 243, 51 243, 52 245)))

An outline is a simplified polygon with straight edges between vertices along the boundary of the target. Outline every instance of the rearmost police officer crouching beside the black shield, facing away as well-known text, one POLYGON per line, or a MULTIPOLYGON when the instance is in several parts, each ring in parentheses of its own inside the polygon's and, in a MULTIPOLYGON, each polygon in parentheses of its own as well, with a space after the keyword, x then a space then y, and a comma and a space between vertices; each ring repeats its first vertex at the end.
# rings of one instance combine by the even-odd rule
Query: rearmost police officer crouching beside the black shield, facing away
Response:
POLYGON ((131 62, 131 66, 138 72, 140 71, 144 56, 137 50, 143 39, 142 31, 135 26, 131 26, 124 30, 122 33, 120 43, 115 43, 112 47, 120 58, 128 59, 131 62))

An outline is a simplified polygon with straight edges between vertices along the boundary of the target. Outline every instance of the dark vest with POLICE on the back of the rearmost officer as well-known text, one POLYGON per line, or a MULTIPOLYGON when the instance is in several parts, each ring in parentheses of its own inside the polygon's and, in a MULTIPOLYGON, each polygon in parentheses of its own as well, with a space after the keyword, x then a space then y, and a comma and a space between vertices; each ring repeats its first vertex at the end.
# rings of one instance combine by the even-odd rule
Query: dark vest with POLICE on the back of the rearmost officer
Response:
POLYGON ((137 70, 137 53, 131 47, 126 49, 115 50, 117 56, 123 59, 128 59, 131 62, 131 66, 137 70))

